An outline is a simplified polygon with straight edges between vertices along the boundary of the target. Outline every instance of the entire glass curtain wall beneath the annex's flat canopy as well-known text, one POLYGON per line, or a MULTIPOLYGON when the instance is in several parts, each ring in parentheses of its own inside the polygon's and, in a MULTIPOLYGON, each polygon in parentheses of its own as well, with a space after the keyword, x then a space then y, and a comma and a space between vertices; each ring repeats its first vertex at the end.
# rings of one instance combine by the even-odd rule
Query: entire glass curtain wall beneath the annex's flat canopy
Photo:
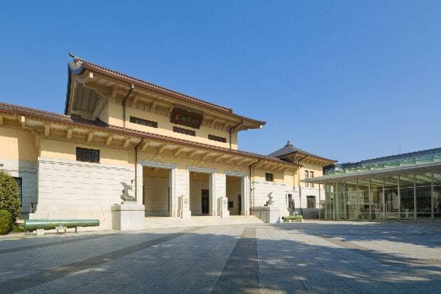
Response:
POLYGON ((325 186, 325 219, 441 219, 441 172, 325 186))

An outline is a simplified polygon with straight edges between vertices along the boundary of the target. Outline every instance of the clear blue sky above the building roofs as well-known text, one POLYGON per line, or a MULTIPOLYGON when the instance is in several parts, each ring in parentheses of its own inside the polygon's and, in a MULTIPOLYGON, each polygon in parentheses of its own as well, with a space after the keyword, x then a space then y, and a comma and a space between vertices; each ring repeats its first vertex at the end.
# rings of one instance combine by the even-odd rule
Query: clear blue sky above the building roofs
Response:
POLYGON ((267 121, 242 150, 441 146, 440 1, 63 2, 0 4, 0 101, 63 112, 72 51, 267 121))

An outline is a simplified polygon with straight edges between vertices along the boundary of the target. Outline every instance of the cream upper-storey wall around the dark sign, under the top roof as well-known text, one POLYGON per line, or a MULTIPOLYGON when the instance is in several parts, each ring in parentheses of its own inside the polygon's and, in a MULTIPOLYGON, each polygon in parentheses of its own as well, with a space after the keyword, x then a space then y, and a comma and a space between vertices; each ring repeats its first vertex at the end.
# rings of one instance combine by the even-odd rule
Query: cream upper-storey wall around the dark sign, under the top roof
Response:
MULTIPOLYGON (((116 102, 109 102, 108 110, 108 119, 102 119, 103 121, 108 122, 114 126, 123 127, 123 106, 120 104, 116 104, 116 102)), ((105 113, 104 111, 102 112, 105 113)), ((101 118, 101 116, 100 116, 101 118)), ((215 128, 207 128, 206 126, 201 126, 199 129, 189 128, 187 126, 181 126, 177 124, 172 124, 170 122, 170 116, 158 115, 156 113, 140 110, 136 108, 131 108, 127 106, 126 115, 125 115, 125 127, 132 130, 141 130, 148 133, 154 133, 158 135, 164 135, 168 137, 175 137, 178 139, 185 139, 188 141, 195 141, 198 143, 209 144, 213 146, 219 146, 223 148, 229 148, 229 133, 223 130, 218 130, 215 128), (130 116, 139 117, 141 119, 147 119, 150 121, 157 121, 158 128, 152 128, 149 126, 143 126, 140 124, 132 124, 130 122, 130 116), (180 128, 187 128, 189 130, 194 130, 196 132, 196 137, 184 135, 180 133, 173 132, 173 126, 178 126, 180 128), (208 135, 216 135, 219 137, 227 138, 227 143, 222 143, 218 141, 213 141, 208 139, 208 135)), ((237 133, 232 133, 232 149, 237 149, 237 133)))

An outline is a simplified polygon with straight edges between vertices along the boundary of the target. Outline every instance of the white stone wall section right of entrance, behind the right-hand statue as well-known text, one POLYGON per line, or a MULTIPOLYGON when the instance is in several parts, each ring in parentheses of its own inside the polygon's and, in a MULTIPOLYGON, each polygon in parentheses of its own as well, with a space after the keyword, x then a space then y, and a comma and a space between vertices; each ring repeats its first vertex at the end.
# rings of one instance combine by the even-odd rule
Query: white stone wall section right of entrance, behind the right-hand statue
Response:
POLYGON ((268 200, 269 193, 272 193, 274 206, 280 209, 280 216, 289 215, 286 202, 286 185, 274 182, 253 182, 254 206, 263 206, 268 200))

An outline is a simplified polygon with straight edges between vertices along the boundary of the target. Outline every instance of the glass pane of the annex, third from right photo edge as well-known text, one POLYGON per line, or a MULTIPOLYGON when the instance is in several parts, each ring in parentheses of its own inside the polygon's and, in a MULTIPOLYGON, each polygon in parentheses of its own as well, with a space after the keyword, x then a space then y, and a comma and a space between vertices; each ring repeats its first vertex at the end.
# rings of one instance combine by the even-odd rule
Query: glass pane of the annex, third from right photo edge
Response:
POLYGON ((415 175, 400 175, 400 219, 415 217, 415 175))

